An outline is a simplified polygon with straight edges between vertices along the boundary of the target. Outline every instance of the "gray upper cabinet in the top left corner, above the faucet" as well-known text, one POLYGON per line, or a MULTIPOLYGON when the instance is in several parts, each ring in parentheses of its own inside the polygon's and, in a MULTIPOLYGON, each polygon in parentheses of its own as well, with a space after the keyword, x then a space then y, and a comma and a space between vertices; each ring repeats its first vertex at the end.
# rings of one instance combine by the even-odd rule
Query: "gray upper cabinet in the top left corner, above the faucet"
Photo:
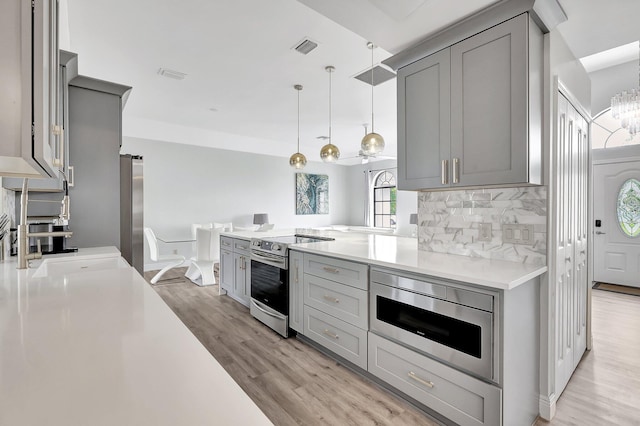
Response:
POLYGON ((3 46, 0 175, 55 177, 60 167, 58 1, 8 0, 3 46))

